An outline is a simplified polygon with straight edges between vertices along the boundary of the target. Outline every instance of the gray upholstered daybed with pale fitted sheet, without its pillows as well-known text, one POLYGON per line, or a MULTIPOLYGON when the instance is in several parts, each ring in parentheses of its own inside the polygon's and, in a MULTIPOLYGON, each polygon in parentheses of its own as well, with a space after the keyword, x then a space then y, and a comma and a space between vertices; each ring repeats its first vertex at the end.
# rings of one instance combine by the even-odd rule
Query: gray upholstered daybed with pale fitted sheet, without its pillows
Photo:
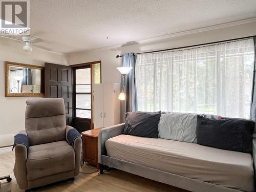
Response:
POLYGON ((251 156, 197 143, 122 135, 123 127, 99 132, 101 173, 106 165, 190 191, 254 191, 256 138, 251 156))

